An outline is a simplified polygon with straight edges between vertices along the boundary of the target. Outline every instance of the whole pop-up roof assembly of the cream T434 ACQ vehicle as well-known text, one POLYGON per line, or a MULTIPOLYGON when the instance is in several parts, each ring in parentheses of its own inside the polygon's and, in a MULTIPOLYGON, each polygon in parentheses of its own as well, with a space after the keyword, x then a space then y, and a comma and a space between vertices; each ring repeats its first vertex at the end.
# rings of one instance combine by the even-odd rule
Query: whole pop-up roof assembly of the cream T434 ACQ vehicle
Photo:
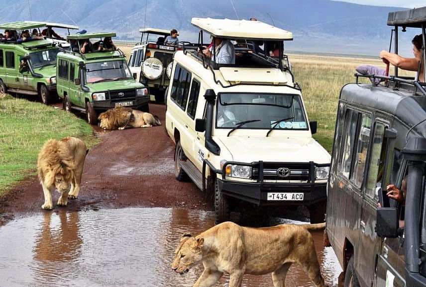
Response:
MULTIPOLYGON (((223 78, 228 81, 229 85, 224 85, 220 80, 215 81, 222 87, 228 87, 245 84, 253 81, 251 73, 252 69, 266 69, 265 76, 257 77, 256 84, 273 83, 276 85, 288 85, 289 80, 286 74, 289 73, 293 86, 292 88, 300 89, 297 83, 294 83, 294 76, 290 71, 288 57, 284 55, 284 41, 292 41, 293 33, 280 29, 278 27, 260 22, 248 20, 231 20, 231 19, 213 19, 213 18, 192 18, 191 23, 200 29, 199 46, 204 45, 203 31, 211 34, 213 38, 219 37, 237 41, 235 47, 235 64, 216 64, 216 49, 214 41, 212 41, 213 56, 206 59, 201 53, 193 52, 192 55, 203 61, 205 68, 214 71, 219 70, 223 78), (275 44, 279 49, 278 58, 268 55, 267 47, 275 44), (241 47, 242 46, 242 47, 241 47), (263 46, 263 48, 258 48, 263 46), (287 62, 286 65, 283 65, 287 62), (238 69, 234 68, 250 68, 238 69), (275 70, 275 69, 276 70, 275 70)), ((186 52, 187 47, 184 47, 186 52)))

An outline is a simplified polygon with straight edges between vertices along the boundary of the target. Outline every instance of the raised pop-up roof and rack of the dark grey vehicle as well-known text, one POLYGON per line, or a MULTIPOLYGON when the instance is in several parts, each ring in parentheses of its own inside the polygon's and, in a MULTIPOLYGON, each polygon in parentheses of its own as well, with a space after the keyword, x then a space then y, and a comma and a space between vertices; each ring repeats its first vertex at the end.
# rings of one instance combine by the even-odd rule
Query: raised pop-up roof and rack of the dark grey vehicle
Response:
MULTIPOLYGON (((390 41, 390 47, 389 51, 392 48, 392 41, 394 41, 394 53, 398 54, 398 33, 401 29, 402 32, 405 32, 407 28, 421 28, 422 29, 422 38, 423 43, 426 43, 426 7, 421 7, 417 9, 411 9, 411 10, 403 10, 403 11, 396 11, 396 12, 390 12, 388 15, 388 26, 393 26, 394 28, 391 31, 391 41, 390 41), (395 35, 395 36, 394 36, 395 35)), ((420 71, 426 71, 426 51, 425 51, 425 44, 422 48, 422 58, 418 69, 418 74, 420 74, 420 71), (423 69, 422 69, 423 66, 423 69)), ((388 64, 389 65, 389 64, 388 64)), ((389 71, 389 69, 387 70, 389 71)), ((386 83, 388 84, 388 81, 393 82, 394 89, 398 89, 401 84, 408 84, 411 86, 414 86, 414 94, 416 94, 418 91, 421 92, 423 95, 426 95, 426 83, 419 81, 419 79, 413 78, 413 77, 406 77, 406 76, 399 76, 398 75, 398 67, 395 67, 394 75, 361 75, 359 73, 355 74, 356 81, 358 82, 358 77, 369 77, 369 78, 378 78, 382 80, 386 80, 386 83)), ((372 81, 374 83, 374 80, 372 81)))

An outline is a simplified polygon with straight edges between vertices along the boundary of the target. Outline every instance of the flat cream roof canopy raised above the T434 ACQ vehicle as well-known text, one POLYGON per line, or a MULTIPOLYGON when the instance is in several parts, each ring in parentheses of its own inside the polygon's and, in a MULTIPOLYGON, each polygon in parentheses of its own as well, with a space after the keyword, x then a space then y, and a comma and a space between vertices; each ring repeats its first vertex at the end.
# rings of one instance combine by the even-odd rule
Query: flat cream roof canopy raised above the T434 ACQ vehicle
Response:
POLYGON ((191 23, 214 37, 253 40, 293 40, 293 33, 260 21, 192 18, 191 23))

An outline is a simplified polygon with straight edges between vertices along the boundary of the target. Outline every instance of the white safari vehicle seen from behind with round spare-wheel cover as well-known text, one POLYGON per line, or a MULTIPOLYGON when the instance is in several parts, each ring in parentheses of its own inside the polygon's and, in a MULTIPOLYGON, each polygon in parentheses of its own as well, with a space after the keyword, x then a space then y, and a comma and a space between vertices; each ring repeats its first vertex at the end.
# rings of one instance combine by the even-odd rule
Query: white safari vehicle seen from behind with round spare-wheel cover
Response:
POLYGON ((139 32, 140 43, 132 48, 128 65, 133 77, 148 87, 151 101, 162 102, 169 86, 173 53, 179 46, 164 45, 170 31, 142 28, 139 32))

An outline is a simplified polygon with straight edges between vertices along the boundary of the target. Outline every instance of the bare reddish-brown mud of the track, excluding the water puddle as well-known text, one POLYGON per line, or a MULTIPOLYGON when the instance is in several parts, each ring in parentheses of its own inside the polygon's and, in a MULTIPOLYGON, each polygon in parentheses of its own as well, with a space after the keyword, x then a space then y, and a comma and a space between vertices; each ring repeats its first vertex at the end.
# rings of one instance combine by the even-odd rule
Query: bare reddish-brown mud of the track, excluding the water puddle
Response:
MULTIPOLYGON (((175 179, 174 144, 164 130, 165 106, 152 104, 150 109, 152 114, 158 115, 162 126, 99 132, 103 140, 87 155, 79 198, 69 200, 66 209, 183 207, 212 210, 192 182, 175 179)), ((58 196, 55 194, 54 200, 58 196)), ((40 212, 43 202, 37 178, 26 179, 0 199, 0 225, 40 212)))

